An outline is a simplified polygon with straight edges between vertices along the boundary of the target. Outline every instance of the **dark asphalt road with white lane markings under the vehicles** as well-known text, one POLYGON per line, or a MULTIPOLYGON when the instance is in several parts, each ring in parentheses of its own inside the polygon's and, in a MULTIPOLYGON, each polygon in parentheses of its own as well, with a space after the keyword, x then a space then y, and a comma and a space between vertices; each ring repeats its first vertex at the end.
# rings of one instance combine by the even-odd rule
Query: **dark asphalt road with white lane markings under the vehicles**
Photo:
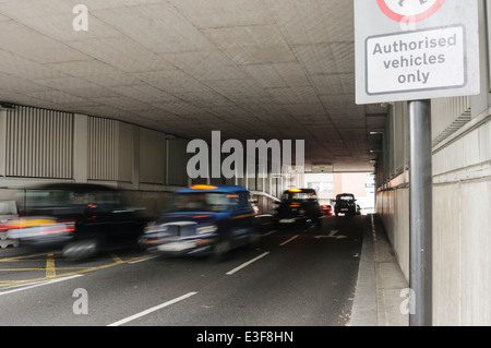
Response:
POLYGON ((216 263, 135 250, 0 254, 0 326, 344 326, 367 216, 266 231, 216 263))

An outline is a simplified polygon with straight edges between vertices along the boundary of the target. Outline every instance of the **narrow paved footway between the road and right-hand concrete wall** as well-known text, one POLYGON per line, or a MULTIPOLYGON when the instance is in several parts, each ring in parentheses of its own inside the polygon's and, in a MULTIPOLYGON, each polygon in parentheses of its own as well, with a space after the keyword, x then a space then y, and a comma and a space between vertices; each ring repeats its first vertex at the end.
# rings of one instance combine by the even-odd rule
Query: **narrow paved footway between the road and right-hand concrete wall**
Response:
POLYGON ((409 326, 404 314, 409 288, 382 223, 368 217, 350 326, 409 326))

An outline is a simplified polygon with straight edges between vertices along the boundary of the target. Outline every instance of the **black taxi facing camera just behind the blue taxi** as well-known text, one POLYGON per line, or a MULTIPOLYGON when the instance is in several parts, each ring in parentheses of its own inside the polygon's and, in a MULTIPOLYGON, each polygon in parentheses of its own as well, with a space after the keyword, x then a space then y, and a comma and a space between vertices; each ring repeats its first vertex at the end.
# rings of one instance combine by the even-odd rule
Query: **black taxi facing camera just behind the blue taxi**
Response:
POLYGON ((321 206, 315 190, 290 189, 283 193, 282 201, 273 214, 276 228, 321 224, 321 206))

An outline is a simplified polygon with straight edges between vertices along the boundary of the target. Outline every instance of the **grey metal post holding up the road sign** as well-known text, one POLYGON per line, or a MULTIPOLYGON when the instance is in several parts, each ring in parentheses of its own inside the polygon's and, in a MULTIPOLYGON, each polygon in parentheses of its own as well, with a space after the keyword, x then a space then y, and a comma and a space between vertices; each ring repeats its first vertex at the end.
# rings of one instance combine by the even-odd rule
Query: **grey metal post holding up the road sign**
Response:
POLYGON ((410 326, 432 325, 431 101, 409 103, 410 326))

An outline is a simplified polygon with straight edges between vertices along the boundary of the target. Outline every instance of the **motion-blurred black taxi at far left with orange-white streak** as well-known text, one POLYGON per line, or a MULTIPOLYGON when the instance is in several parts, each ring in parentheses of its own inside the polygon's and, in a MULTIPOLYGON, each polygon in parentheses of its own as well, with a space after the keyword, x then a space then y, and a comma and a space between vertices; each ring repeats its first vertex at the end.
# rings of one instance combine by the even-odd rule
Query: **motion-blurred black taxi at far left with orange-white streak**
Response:
POLYGON ((149 218, 125 207, 119 190, 85 183, 52 183, 26 190, 22 216, 8 223, 8 237, 26 247, 61 247, 69 259, 137 245, 149 218))

